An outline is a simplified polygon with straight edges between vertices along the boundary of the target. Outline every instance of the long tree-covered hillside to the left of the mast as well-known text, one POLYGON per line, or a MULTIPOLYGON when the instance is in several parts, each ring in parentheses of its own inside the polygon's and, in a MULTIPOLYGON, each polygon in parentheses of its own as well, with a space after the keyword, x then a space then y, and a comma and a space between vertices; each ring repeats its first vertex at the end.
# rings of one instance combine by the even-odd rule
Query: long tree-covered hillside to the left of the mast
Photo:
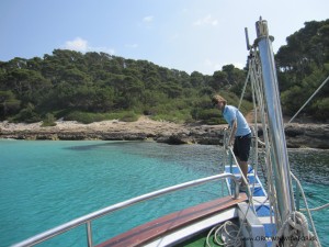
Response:
POLYGON ((39 121, 47 113, 47 117, 82 122, 138 114, 177 122, 198 120, 203 114, 208 119, 218 115, 211 109, 209 96, 246 77, 234 66, 213 76, 188 75, 146 60, 61 49, 0 66, 1 119, 24 122, 39 121))

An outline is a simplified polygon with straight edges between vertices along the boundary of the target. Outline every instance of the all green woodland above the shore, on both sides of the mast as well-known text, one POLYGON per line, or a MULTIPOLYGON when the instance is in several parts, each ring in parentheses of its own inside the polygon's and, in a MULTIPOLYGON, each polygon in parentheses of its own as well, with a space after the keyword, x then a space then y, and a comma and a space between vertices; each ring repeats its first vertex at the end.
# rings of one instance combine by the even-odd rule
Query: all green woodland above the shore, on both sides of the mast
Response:
MULTIPOLYGON (((329 20, 307 22, 287 37, 276 56, 285 114, 294 114, 329 74, 329 20), (298 102, 292 99, 298 99, 298 102)), ((211 104, 219 92, 237 105, 247 72, 226 65, 213 76, 191 75, 105 53, 55 49, 43 58, 15 57, 0 61, 0 120, 54 125, 56 119, 91 123, 139 115, 172 122, 222 123, 211 104)), ((247 89, 241 105, 252 105, 247 89)), ((304 111, 328 119, 328 87, 304 111)))

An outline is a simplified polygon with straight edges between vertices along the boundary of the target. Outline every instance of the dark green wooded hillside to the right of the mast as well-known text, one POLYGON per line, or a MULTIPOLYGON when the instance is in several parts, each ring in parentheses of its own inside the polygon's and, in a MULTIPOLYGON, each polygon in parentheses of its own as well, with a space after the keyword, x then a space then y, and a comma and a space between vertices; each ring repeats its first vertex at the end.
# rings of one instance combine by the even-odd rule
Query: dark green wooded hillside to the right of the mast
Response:
MULTIPOLYGON (((305 27, 286 38, 275 55, 283 111, 296 111, 329 76, 329 19, 306 22, 305 27)), ((329 83, 303 111, 315 120, 329 119, 329 83)))

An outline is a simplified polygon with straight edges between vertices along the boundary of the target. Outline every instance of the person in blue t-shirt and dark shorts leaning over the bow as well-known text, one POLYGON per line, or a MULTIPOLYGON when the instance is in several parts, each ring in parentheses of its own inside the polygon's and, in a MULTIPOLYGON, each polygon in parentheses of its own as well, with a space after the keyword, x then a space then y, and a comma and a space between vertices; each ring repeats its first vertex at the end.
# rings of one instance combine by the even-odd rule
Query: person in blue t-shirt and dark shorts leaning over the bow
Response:
POLYGON ((247 179, 251 130, 242 113, 236 106, 227 105, 226 100, 223 97, 216 94, 212 98, 212 102, 214 106, 222 111, 224 119, 231 128, 228 146, 234 145, 234 154, 247 179))

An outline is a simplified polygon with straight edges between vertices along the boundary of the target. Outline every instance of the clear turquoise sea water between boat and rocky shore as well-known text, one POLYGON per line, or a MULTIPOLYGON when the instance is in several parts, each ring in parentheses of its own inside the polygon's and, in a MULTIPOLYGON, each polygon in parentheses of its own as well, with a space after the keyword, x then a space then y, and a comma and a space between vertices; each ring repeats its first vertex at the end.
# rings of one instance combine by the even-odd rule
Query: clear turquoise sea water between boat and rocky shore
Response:
MULTIPOLYGON (((216 146, 151 142, 0 141, 0 246, 104 206, 220 170, 216 146)), ((290 151, 309 206, 328 203, 329 151, 290 151)), ((94 244, 157 216, 225 194, 222 182, 166 195, 93 223, 94 244)), ((303 206, 303 204, 302 204, 303 206)), ((313 213, 322 246, 329 246, 328 210, 313 213)), ((87 246, 86 229, 41 246, 87 246)))

